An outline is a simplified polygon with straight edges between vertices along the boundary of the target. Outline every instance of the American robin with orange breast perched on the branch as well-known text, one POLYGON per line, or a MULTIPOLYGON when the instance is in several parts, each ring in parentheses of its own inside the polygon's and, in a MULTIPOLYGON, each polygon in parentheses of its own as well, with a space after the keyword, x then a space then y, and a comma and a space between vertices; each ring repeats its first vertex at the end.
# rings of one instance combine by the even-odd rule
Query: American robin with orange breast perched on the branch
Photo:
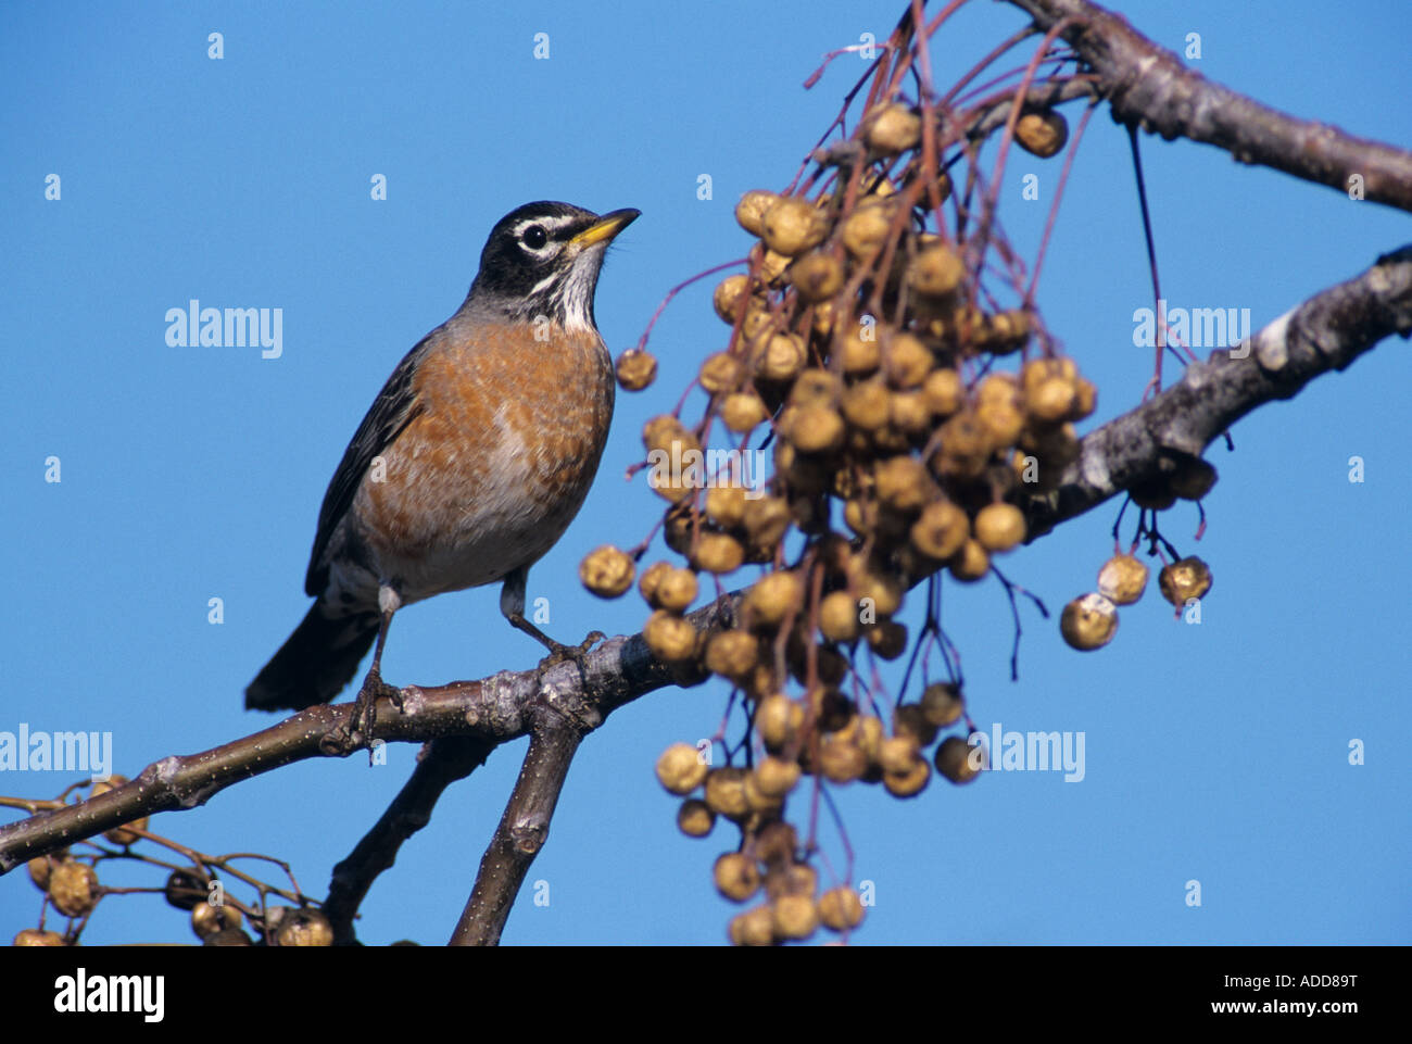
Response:
POLYGON ((393 615, 483 583, 503 582, 500 612, 552 657, 582 651, 525 619, 525 581, 578 514, 607 441, 613 360, 593 291, 638 213, 537 202, 491 229, 465 302, 398 363, 343 452, 304 582, 316 600, 250 682, 247 708, 328 702, 376 640, 359 694, 370 712, 388 688, 393 615))

